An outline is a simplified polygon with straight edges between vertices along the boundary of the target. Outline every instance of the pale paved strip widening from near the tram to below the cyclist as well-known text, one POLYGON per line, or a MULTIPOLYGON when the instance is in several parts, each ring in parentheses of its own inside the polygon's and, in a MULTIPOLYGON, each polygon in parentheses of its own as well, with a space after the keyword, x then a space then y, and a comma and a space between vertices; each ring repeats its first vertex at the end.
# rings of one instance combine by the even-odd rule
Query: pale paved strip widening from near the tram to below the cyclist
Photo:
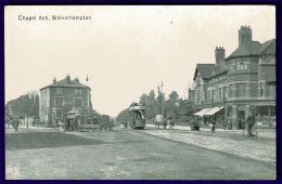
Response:
POLYGON ((177 142, 182 142, 185 144, 218 150, 226 154, 240 156, 243 158, 252 158, 260 161, 277 161, 277 149, 275 149, 275 140, 244 140, 220 137, 220 136, 206 136, 196 133, 185 133, 177 131, 166 131, 166 130, 146 130, 146 134, 154 136, 159 136, 162 139, 174 140, 177 142))

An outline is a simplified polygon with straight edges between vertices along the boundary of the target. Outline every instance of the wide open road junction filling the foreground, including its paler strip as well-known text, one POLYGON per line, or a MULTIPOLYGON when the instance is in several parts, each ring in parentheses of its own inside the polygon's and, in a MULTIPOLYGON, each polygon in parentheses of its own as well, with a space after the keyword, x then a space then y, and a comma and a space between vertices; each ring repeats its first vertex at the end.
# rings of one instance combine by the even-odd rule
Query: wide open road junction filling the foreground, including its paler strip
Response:
POLYGON ((70 133, 7 129, 5 172, 8 180, 272 180, 275 140, 150 127, 70 133))

